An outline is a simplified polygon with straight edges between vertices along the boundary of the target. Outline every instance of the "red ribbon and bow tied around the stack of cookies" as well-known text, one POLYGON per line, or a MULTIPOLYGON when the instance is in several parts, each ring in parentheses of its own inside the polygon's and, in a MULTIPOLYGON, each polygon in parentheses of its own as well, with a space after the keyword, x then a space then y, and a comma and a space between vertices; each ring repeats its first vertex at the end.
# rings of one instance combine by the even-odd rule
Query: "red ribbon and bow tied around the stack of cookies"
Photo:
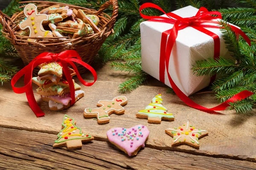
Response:
POLYGON ((27 65, 22 70, 20 70, 17 74, 15 74, 15 76, 12 78, 12 82, 11 82, 12 89, 15 93, 17 93, 17 94, 26 93, 26 97, 28 99, 30 108, 32 109, 32 111, 35 113, 35 115, 37 117, 44 116, 44 112, 41 111, 41 109, 39 108, 39 106, 35 100, 33 90, 32 90, 32 71, 34 70, 35 67, 37 67, 40 64, 43 64, 45 62, 53 62, 53 61, 56 61, 61 65, 62 70, 67 78, 67 82, 68 82, 69 88, 70 88, 71 99, 72 99, 71 105, 73 105, 75 103, 76 98, 75 98, 74 83, 73 83, 72 77, 70 75, 70 71, 67 67, 68 65, 71 65, 73 67, 74 71, 76 72, 76 76, 78 77, 79 81, 83 85, 91 86, 97 80, 96 71, 90 65, 83 62, 81 57, 79 56, 79 54, 74 50, 63 51, 58 54, 45 52, 45 53, 38 55, 37 57, 35 57, 35 59, 33 59, 29 63, 29 65, 27 65), (80 76, 79 71, 77 70, 76 65, 73 62, 79 63, 79 64, 83 65, 85 68, 87 68, 93 74, 94 82, 85 82, 82 79, 82 77, 80 76), (15 83, 23 75, 24 75, 24 86, 21 88, 14 87, 15 83))

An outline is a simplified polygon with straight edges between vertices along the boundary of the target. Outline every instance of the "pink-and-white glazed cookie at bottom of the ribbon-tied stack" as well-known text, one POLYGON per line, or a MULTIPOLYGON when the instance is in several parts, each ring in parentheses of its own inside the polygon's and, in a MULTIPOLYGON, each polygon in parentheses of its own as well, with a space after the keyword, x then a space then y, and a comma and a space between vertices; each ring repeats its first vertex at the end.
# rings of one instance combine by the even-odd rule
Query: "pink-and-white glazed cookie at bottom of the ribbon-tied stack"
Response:
MULTIPOLYGON (((84 91, 75 91, 76 100, 79 100, 84 96, 84 91)), ((67 109, 71 105, 71 96, 70 93, 64 95, 55 95, 55 96, 41 96, 43 101, 49 102, 49 108, 52 111, 62 111, 67 109)))

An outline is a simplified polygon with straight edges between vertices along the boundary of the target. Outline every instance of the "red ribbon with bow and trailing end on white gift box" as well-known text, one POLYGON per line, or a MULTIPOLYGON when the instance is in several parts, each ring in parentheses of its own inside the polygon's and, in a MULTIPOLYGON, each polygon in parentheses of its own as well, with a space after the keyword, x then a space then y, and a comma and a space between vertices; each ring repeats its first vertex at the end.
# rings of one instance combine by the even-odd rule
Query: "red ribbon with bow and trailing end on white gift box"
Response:
MULTIPOLYGON (((213 32, 207 30, 204 27, 208 28, 220 28, 219 26, 212 26, 212 25, 207 25, 205 23, 214 23, 214 24, 220 24, 218 21, 214 21, 214 19, 221 19, 221 13, 218 11, 208 11, 207 8, 201 7, 197 14, 193 17, 187 17, 187 18, 182 18, 172 12, 166 14, 167 17, 162 17, 162 16, 147 16, 141 13, 141 11, 144 8, 155 8, 160 11, 162 11, 164 14, 166 14, 165 11, 163 11, 162 8, 159 6, 155 5, 154 3, 144 3, 142 6, 140 6, 140 15, 144 19, 149 19, 149 21, 152 22, 160 22, 160 23, 170 23, 174 24, 172 29, 169 29, 167 31, 164 31, 162 33, 162 38, 161 38, 161 45, 160 45, 160 71, 159 71, 159 76, 160 76, 160 81, 165 82, 165 68, 167 70, 167 75, 169 82, 172 86, 173 91, 177 94, 177 96, 186 103, 186 105, 189 105, 192 108, 199 109, 201 111, 206 111, 206 112, 211 112, 211 111, 223 111, 225 110, 229 105, 230 102, 235 102, 237 100, 242 100, 245 99, 248 96, 251 96, 253 93, 250 91, 241 91, 240 93, 236 94, 235 96, 231 97, 227 101, 221 103, 220 105, 214 107, 214 108, 205 108, 204 106, 198 105, 191 99, 189 99, 186 94, 184 94, 175 84, 175 82, 172 80, 172 77, 169 74, 169 60, 172 52, 173 45, 175 44, 178 31, 181 29, 184 29, 188 26, 197 29, 198 31, 203 32, 204 34, 207 34, 211 36, 214 40, 214 59, 219 58, 220 54, 220 39, 218 35, 214 34, 213 32), (215 15, 215 16, 212 16, 215 15), (169 35, 169 38, 167 40, 167 37, 169 35)), ((230 28, 236 33, 241 35, 244 40, 250 45, 250 39, 247 37, 247 35, 241 31, 239 28, 229 25, 230 28)), ((214 80, 215 77, 212 77, 211 81, 214 80)))

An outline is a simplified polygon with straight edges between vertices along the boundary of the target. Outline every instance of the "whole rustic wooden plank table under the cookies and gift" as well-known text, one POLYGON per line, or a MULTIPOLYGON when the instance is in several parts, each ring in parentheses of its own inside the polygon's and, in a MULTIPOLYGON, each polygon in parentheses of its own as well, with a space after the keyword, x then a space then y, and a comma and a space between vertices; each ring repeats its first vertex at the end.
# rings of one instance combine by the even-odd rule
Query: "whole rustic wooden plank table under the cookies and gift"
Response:
MULTIPOLYGON (((95 107, 100 99, 119 96, 118 85, 129 78, 126 73, 110 70, 109 64, 96 62, 94 67, 97 82, 91 87, 82 86, 85 96, 67 110, 50 111, 48 103, 35 94, 38 105, 46 113, 41 118, 36 118, 29 108, 25 94, 12 91, 10 82, 0 87, 0 169, 256 170, 256 114, 233 111, 209 114, 189 108, 176 95, 166 94, 166 85, 154 78, 125 94, 128 98, 125 114, 112 114, 110 123, 99 125, 94 119, 85 119, 84 108, 95 107), (144 109, 158 93, 163 94, 163 105, 173 113, 175 121, 149 124, 147 119, 136 118, 137 111, 144 109), (84 144, 81 150, 53 149, 64 114, 74 118, 76 125, 95 140, 84 144), (172 137, 164 130, 187 121, 209 132, 199 140, 200 149, 188 145, 171 147, 172 137), (137 156, 129 157, 107 141, 106 132, 112 127, 138 124, 146 125, 150 136, 137 156)), ((93 79, 89 73, 83 74, 83 78, 93 79)), ((17 84, 21 85, 21 82, 17 84)), ((214 94, 196 94, 191 99, 206 107, 217 105, 214 94)))

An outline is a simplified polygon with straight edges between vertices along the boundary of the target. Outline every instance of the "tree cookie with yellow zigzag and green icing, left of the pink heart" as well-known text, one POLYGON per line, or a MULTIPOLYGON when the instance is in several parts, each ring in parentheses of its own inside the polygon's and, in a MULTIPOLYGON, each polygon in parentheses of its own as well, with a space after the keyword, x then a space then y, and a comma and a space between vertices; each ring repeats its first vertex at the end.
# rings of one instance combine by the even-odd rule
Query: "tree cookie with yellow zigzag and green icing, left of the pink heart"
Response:
POLYGON ((66 146, 67 149, 77 149, 82 147, 82 142, 89 142, 93 139, 93 136, 84 134, 81 128, 76 126, 74 119, 65 115, 62 130, 58 133, 58 139, 55 140, 53 147, 66 146))

